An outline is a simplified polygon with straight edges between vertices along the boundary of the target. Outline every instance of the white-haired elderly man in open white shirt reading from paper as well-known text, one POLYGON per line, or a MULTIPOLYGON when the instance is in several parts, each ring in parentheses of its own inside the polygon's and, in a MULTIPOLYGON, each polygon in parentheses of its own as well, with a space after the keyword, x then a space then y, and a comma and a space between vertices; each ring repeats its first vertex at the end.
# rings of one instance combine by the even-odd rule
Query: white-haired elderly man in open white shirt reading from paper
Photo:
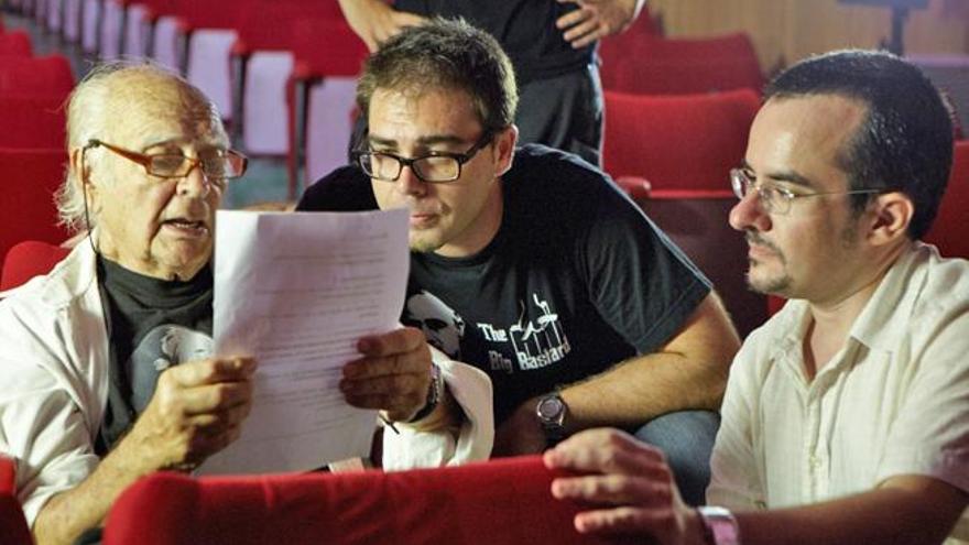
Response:
MULTIPOLYGON (((152 66, 96 68, 70 97, 68 146, 61 212, 91 235, 0 303, 0 451, 39 544, 72 542, 139 477, 231 443, 255 371, 211 353, 215 211, 246 159, 209 100, 152 66)), ((358 349, 348 402, 448 423, 418 329, 358 349)))

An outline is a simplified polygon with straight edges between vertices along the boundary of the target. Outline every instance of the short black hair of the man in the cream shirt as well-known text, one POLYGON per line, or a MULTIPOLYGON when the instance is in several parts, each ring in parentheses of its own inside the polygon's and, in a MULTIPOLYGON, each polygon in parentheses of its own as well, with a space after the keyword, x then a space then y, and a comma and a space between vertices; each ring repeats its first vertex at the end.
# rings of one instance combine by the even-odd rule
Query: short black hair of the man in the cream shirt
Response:
MULTIPOLYGON (((951 111, 916 66, 886 52, 846 50, 801 62, 780 74, 764 99, 839 95, 864 102, 865 118, 841 151, 849 189, 902 192, 915 212, 907 235, 932 227, 952 163, 951 111)), ((853 195, 856 212, 871 194, 853 195)))

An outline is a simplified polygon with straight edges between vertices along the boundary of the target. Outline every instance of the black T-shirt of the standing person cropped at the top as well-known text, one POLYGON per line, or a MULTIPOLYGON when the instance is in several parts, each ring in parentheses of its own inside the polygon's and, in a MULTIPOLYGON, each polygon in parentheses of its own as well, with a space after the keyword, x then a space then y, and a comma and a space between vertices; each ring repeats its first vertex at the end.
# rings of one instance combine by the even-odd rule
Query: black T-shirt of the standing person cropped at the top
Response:
POLYGON ((422 15, 462 17, 494 36, 511 58, 519 85, 580 69, 595 45, 575 50, 555 21, 578 9, 556 0, 396 0, 394 7, 422 15))

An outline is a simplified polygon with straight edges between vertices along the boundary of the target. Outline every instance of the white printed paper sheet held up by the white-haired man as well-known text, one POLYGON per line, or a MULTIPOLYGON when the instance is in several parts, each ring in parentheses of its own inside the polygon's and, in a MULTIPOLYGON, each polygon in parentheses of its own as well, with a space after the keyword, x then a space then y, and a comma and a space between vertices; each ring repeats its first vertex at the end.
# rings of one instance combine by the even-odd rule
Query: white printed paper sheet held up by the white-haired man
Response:
POLYGON ((398 327, 407 212, 253 212, 216 220, 216 353, 257 359, 241 437, 197 473, 304 471, 370 451, 375 411, 337 388, 357 339, 398 327))

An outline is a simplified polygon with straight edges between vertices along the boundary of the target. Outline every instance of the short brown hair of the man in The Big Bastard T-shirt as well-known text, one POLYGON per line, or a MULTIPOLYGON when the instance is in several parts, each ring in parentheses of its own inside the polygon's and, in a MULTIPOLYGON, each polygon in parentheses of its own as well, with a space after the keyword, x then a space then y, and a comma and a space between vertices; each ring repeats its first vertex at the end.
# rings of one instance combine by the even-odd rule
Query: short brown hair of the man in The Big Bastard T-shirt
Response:
POLYGON ((357 86, 364 116, 377 89, 464 90, 484 131, 492 133, 512 124, 519 101, 514 69, 501 45, 461 19, 434 18, 384 42, 364 64, 357 86))

